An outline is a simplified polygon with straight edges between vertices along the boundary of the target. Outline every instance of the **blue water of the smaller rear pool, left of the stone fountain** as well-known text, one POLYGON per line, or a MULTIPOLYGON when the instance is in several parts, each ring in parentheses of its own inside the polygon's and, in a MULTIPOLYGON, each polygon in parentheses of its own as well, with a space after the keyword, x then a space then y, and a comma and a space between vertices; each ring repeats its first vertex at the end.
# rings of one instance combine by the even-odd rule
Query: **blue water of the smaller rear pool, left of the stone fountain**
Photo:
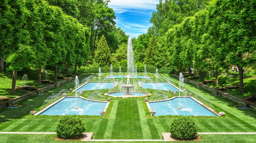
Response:
POLYGON ((116 85, 115 82, 88 82, 84 86, 77 89, 77 92, 84 91, 84 89, 96 90, 96 89, 109 89, 116 85))

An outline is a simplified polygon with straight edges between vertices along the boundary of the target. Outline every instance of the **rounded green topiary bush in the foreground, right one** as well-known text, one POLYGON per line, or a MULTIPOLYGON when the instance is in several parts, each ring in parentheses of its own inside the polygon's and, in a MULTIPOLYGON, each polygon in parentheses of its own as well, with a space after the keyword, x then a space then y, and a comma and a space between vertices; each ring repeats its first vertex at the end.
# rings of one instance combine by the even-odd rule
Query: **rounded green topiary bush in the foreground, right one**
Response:
POLYGON ((176 139, 195 138, 198 126, 192 118, 179 116, 170 125, 170 132, 176 139))

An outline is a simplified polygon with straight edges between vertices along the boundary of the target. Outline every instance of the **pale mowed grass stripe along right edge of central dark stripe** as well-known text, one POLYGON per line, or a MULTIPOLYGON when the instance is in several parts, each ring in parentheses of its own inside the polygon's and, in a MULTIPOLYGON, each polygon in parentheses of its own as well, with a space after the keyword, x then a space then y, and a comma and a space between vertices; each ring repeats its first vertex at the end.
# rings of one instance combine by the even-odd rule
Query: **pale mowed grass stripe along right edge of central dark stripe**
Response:
POLYGON ((144 139, 151 139, 152 136, 150 134, 150 129, 147 124, 146 115, 142 106, 142 103, 140 100, 137 100, 138 103, 138 110, 139 110, 139 119, 140 119, 140 125, 142 129, 142 135, 144 139))

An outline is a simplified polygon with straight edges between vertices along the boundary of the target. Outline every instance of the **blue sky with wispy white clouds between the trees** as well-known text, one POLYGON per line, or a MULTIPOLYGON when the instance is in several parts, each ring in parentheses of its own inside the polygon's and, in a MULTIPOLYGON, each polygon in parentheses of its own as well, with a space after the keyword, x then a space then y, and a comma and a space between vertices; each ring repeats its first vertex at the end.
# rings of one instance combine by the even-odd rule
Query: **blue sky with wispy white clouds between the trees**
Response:
POLYGON ((116 13, 117 28, 121 27, 131 38, 138 38, 152 26, 149 20, 157 4, 159 0, 111 0, 108 6, 116 13))

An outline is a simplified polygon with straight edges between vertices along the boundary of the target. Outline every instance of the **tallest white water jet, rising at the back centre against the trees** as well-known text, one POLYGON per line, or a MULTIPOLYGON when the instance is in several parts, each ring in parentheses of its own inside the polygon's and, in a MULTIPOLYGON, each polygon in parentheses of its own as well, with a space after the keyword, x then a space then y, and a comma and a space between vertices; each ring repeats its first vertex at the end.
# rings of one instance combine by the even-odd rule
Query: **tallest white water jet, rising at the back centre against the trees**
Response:
POLYGON ((128 38, 127 47, 127 75, 129 75, 129 72, 134 72, 133 46, 131 37, 128 38))

